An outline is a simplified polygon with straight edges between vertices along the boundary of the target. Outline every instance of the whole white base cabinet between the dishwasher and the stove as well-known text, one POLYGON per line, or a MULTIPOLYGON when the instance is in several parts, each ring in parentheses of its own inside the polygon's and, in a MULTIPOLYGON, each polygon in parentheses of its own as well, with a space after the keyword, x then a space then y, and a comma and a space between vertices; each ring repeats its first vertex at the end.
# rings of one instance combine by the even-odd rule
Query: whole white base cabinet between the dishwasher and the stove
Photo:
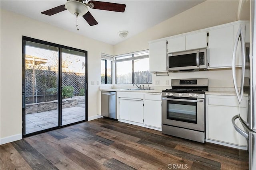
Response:
POLYGON ((161 131, 160 93, 118 92, 117 96, 118 121, 161 131))

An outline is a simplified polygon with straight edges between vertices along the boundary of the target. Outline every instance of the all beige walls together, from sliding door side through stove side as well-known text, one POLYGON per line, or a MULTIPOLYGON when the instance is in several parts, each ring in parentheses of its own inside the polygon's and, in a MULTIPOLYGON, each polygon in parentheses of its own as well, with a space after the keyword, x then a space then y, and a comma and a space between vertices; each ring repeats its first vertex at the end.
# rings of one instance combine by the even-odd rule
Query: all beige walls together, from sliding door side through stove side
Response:
MULTIPOLYGON (((247 5, 248 6, 248 5, 247 5)), ((22 133, 22 35, 88 51, 88 117, 100 113, 100 53, 119 55, 148 49, 148 41, 236 21, 238 1, 206 1, 114 47, 1 9, 0 138, 22 133)), ((248 10, 243 10, 248 11, 248 10)), ((242 20, 248 18, 242 13, 242 20)), ((128 30, 129 31, 129 30, 128 30)), ((231 70, 153 74, 153 85, 172 78, 208 77, 211 87, 232 87, 231 70)))

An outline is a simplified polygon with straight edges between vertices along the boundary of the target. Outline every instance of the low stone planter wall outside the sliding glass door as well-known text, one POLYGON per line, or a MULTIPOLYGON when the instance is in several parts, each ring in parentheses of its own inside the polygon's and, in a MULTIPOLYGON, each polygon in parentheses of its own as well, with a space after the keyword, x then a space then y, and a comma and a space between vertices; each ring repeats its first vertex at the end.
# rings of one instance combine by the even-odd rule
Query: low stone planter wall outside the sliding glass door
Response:
MULTIPOLYGON (((75 107, 77 106, 77 99, 63 99, 62 108, 75 107)), ((58 109, 58 100, 53 100, 51 102, 40 102, 33 104, 26 104, 26 114, 30 113, 40 113, 43 111, 57 110, 58 109)))

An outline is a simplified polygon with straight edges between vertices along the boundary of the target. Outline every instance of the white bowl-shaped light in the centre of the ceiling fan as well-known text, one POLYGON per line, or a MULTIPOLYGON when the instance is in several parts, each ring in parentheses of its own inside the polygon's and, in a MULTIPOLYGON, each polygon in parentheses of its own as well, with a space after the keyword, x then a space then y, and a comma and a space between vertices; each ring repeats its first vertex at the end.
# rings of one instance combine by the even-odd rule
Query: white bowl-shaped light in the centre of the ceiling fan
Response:
POLYGON ((76 0, 70 0, 66 2, 65 8, 73 15, 83 16, 88 12, 88 7, 86 4, 76 1, 76 0))

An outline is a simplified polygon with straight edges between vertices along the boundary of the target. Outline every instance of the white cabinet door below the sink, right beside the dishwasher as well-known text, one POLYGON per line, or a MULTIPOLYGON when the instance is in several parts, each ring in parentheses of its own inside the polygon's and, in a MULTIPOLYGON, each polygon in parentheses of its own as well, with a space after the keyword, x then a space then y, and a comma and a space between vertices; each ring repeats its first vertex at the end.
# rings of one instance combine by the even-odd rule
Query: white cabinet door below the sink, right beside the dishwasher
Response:
POLYGON ((119 99, 119 118, 143 123, 143 101, 119 99))

